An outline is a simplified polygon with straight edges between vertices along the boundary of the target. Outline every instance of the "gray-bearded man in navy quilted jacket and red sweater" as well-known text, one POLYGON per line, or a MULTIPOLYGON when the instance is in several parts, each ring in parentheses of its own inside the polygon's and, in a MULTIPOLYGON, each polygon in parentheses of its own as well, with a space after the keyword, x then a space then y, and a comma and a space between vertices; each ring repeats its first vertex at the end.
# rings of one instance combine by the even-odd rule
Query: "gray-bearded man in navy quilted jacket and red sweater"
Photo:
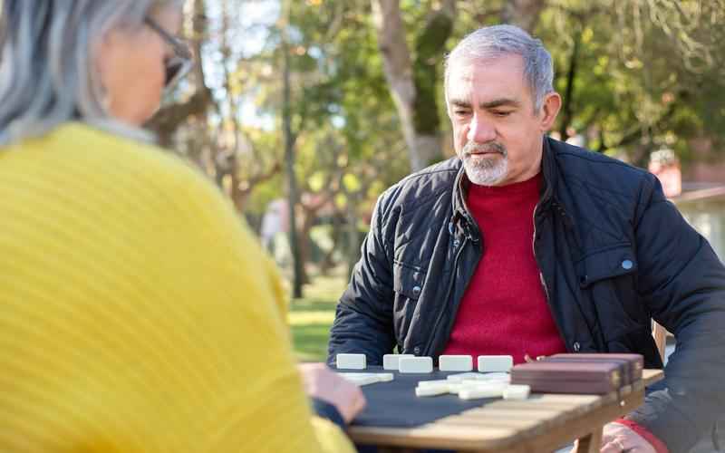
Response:
POLYGON ((546 137, 551 56, 508 25, 450 53, 457 158, 379 199, 337 308, 330 361, 415 355, 638 352, 651 320, 677 339, 666 380, 610 423, 603 451, 686 451, 725 404, 725 269, 656 178, 546 137))

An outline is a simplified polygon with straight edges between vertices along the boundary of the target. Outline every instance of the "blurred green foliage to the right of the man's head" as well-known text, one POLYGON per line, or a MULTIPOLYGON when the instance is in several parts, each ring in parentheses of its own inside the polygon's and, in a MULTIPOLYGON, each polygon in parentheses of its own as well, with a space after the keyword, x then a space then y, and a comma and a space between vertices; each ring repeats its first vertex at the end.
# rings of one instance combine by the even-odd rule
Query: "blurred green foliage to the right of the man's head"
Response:
POLYGON ((686 157, 692 137, 721 137, 723 11, 720 0, 552 0, 539 32, 564 96, 562 139, 585 134, 646 166, 652 149, 686 157))

